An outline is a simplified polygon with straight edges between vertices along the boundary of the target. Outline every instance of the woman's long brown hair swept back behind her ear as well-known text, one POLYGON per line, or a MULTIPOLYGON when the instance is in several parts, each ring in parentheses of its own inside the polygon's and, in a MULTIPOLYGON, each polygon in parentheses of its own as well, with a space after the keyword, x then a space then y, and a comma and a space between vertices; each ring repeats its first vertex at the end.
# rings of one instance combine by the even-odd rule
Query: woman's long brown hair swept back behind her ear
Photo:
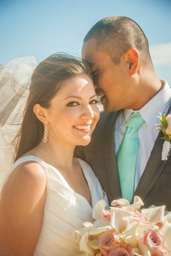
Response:
POLYGON ((84 74, 91 78, 91 70, 86 62, 68 54, 53 54, 38 64, 32 75, 23 122, 14 139, 14 162, 42 140, 44 125, 34 114, 34 105, 38 103, 43 108, 49 108, 50 101, 66 80, 84 74))

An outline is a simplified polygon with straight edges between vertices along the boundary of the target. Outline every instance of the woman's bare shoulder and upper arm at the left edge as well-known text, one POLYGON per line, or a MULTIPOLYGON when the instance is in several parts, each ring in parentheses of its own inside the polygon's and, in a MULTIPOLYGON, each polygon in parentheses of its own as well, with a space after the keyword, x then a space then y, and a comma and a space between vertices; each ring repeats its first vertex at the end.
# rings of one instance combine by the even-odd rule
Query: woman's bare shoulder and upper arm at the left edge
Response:
POLYGON ((4 184, 0 198, 0 247, 5 244, 9 255, 33 255, 45 202, 46 174, 42 166, 35 161, 21 162, 4 184))

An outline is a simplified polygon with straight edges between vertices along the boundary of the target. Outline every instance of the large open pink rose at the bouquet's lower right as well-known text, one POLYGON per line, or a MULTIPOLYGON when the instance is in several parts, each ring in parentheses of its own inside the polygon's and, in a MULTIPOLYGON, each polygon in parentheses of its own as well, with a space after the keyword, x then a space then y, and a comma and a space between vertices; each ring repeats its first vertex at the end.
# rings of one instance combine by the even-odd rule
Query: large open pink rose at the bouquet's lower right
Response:
POLYGON ((146 228, 139 236, 137 236, 138 245, 145 244, 151 256, 163 255, 166 251, 163 234, 158 230, 146 228))

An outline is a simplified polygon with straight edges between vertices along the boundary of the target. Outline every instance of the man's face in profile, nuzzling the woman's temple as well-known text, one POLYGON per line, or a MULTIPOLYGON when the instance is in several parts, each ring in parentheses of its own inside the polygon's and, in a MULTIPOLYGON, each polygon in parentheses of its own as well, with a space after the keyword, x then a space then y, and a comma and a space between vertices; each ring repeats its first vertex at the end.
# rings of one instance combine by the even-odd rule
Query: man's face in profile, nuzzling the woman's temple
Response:
POLYGON ((121 62, 116 65, 107 53, 97 50, 95 39, 84 42, 82 58, 91 67, 95 91, 101 98, 105 112, 128 108, 130 95, 125 82, 128 73, 124 58, 121 57, 121 62))

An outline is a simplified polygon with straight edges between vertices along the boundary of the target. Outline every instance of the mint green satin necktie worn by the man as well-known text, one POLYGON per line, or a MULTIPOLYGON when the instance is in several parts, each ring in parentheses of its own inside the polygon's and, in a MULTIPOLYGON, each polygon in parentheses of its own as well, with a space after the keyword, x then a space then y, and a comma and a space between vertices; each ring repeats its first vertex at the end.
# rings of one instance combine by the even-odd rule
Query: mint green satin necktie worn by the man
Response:
POLYGON ((117 168, 121 185, 122 198, 131 202, 134 193, 135 164, 138 152, 137 130, 144 123, 139 113, 131 114, 121 145, 117 152, 117 168))

